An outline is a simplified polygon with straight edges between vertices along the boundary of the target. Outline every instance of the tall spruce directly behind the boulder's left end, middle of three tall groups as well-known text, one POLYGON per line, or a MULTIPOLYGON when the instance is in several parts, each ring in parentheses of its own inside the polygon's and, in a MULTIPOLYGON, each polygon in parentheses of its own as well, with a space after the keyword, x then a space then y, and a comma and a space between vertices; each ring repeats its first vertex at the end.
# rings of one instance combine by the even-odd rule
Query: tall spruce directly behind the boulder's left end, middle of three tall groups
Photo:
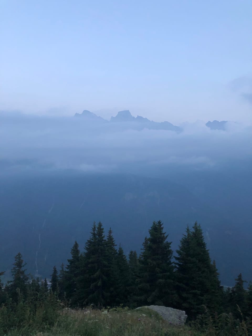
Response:
POLYGON ((172 305, 174 267, 171 242, 163 231, 163 223, 153 222, 149 238, 145 238, 139 258, 139 303, 172 305))

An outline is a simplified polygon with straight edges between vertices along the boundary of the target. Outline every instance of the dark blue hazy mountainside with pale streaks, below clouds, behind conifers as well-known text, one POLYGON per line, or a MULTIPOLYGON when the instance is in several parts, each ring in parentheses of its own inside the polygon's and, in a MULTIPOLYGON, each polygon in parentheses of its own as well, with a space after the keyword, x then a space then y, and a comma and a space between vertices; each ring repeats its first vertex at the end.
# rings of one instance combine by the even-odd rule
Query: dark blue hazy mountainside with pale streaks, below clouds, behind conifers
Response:
MULTIPOLYGON (((9 177, 0 181, 0 258, 10 277, 21 252, 33 275, 50 275, 69 257, 73 242, 83 249, 93 221, 111 226, 128 254, 139 249, 153 220, 164 222, 175 250, 187 224, 202 224, 221 279, 229 284, 241 269, 235 226, 185 187, 165 179, 76 172, 9 177), (232 280, 231 280, 232 279, 232 280)), ((140 251, 138 251, 140 252, 140 251)), ((247 271, 247 273, 246 273, 247 271)))

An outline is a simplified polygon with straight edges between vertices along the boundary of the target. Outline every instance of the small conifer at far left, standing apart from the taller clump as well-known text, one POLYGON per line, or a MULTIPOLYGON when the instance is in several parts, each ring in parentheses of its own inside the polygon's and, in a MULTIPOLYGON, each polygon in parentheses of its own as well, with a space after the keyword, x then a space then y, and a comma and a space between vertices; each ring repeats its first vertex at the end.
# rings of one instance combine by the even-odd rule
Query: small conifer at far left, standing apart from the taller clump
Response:
POLYGON ((12 298, 14 302, 18 301, 18 291, 21 295, 26 299, 27 298, 27 285, 29 277, 26 275, 26 269, 23 269, 26 266, 24 260, 22 259, 22 254, 19 252, 15 256, 15 262, 13 264, 13 268, 11 269, 12 280, 8 281, 9 287, 9 296, 12 298))

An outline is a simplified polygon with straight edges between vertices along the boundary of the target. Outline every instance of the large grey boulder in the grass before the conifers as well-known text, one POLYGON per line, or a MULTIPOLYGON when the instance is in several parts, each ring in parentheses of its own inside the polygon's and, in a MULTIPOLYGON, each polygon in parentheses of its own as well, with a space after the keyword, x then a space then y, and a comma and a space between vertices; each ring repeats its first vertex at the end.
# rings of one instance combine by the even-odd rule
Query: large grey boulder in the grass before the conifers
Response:
POLYGON ((139 308, 149 308, 156 311, 162 316, 164 320, 168 321, 172 325, 183 326, 187 318, 185 311, 165 306, 144 306, 144 307, 138 307, 136 309, 139 308))

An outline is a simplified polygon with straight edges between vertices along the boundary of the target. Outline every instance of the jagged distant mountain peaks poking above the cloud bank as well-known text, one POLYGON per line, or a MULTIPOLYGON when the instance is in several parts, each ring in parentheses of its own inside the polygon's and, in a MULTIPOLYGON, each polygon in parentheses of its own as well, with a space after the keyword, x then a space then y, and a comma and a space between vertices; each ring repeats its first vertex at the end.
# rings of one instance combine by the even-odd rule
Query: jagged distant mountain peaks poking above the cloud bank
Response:
MULTIPOLYGON (((111 117, 110 121, 103 119, 102 117, 99 117, 88 110, 84 110, 81 114, 76 113, 74 116, 77 118, 81 118, 86 122, 95 122, 97 124, 120 123, 121 125, 122 124, 125 125, 124 128, 133 128, 137 130, 148 128, 156 130, 174 131, 176 133, 180 133, 183 131, 182 127, 175 126, 169 123, 168 121, 163 121, 159 123, 141 116, 133 117, 129 110, 119 111, 115 117, 111 117)), ((227 121, 214 120, 214 121, 208 121, 206 123, 206 126, 212 130, 225 131, 226 123, 227 121)))

